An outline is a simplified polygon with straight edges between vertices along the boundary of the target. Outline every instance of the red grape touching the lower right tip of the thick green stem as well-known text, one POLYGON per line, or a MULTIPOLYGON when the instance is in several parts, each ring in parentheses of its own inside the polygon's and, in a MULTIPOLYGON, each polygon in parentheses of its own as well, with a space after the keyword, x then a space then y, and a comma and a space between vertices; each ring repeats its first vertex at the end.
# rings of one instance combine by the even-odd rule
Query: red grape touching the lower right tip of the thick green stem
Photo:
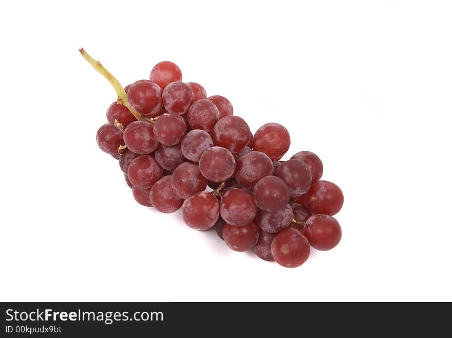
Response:
POLYGON ((180 143, 187 132, 183 118, 176 114, 165 113, 154 124, 156 139, 165 146, 174 146, 180 143))

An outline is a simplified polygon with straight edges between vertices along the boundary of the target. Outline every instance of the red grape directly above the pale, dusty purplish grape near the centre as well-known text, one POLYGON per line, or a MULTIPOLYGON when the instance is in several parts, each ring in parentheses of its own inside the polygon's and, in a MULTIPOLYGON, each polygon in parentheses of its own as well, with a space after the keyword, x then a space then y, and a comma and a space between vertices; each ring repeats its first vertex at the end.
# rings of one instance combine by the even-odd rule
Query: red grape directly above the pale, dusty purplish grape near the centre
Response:
POLYGON ((187 113, 190 128, 210 133, 219 119, 218 108, 209 100, 198 100, 187 113))

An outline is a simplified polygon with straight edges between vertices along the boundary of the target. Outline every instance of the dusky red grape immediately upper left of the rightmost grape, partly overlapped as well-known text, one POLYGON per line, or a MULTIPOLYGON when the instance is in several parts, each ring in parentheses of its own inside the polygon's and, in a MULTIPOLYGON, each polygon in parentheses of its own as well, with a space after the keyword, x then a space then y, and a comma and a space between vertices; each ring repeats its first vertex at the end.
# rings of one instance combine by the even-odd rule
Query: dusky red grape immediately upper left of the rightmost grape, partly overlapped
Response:
POLYGON ((297 198, 304 194, 311 185, 311 171, 299 159, 289 159, 289 161, 281 164, 274 174, 286 182, 291 198, 297 198))

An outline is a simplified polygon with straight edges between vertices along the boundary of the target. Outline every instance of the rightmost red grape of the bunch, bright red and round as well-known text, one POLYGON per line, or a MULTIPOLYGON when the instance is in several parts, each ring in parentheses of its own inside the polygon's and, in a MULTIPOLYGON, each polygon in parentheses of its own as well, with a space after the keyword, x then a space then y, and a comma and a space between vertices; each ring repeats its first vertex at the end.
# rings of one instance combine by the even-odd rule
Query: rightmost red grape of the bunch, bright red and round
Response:
POLYGON ((306 192, 306 206, 314 214, 335 215, 342 208, 344 195, 341 188, 328 181, 315 181, 306 192))

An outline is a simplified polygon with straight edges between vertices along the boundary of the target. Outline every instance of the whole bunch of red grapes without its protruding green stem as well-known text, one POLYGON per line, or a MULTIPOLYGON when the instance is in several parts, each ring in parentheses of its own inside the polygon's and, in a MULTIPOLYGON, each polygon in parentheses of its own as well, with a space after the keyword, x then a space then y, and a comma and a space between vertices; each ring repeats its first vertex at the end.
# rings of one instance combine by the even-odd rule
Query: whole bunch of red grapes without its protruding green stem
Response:
POLYGON ((300 151, 280 161, 290 146, 286 128, 267 123, 253 135, 227 98, 207 97, 200 84, 181 81, 176 64, 158 63, 149 80, 124 88, 146 119, 114 102, 97 132, 136 201, 168 214, 182 207, 191 228, 216 228, 232 250, 253 248, 287 268, 302 265, 311 246, 335 247, 342 230, 332 215, 344 196, 320 180, 318 156, 300 151))

